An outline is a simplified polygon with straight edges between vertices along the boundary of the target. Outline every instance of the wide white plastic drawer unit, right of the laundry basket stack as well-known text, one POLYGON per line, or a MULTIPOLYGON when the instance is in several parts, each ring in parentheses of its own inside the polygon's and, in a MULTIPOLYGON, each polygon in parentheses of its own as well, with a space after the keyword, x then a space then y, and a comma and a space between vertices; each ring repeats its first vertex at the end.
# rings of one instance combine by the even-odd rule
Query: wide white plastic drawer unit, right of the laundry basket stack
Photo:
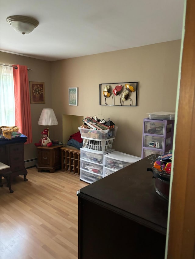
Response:
POLYGON ((125 154, 119 151, 114 151, 110 154, 105 154, 103 165, 103 177, 108 176, 127 165, 139 161, 141 158, 134 155, 125 154))

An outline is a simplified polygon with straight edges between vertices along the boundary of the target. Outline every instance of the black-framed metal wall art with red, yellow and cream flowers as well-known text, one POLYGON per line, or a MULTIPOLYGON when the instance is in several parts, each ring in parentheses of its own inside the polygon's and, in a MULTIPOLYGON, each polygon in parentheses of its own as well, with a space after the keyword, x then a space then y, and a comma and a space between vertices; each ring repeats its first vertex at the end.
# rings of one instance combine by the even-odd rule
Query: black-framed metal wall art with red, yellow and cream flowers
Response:
POLYGON ((100 105, 137 106, 138 82, 101 83, 100 105))

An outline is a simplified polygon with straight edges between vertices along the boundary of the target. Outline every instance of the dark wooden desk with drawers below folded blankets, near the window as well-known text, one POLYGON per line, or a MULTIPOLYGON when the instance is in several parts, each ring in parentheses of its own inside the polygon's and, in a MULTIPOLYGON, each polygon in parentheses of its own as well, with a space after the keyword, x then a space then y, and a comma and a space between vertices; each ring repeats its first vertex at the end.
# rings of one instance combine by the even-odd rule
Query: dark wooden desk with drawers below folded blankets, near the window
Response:
POLYGON ((28 181, 26 178, 27 170, 24 166, 24 143, 27 141, 27 137, 13 138, 11 140, 0 141, 0 162, 9 165, 11 181, 14 177, 23 175, 24 181, 28 181))

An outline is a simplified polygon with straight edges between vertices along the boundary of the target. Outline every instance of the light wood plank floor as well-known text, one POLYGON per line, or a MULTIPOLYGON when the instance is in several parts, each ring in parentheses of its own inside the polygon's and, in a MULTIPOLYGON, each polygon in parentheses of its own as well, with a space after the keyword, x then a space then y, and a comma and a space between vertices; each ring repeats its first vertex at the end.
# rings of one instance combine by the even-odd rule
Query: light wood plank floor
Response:
POLYGON ((1 259, 77 259, 77 190, 87 186, 78 176, 27 169, 12 184, 0 188, 1 259))

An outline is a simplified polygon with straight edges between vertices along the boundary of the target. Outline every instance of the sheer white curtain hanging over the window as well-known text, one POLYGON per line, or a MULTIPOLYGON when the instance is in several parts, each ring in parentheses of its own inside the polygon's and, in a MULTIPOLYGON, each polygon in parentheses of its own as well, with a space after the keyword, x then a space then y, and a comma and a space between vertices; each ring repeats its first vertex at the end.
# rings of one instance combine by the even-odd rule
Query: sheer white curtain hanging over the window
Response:
POLYGON ((0 126, 15 126, 13 67, 9 66, 0 65, 0 126))

